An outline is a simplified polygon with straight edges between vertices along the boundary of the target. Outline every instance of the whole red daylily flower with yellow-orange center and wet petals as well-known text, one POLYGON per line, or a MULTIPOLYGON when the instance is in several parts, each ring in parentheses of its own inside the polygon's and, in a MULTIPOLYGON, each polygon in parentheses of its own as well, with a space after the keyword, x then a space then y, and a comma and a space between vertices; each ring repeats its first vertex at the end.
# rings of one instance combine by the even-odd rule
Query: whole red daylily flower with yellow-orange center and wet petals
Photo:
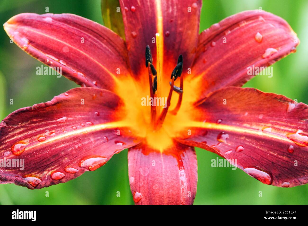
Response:
POLYGON ((240 88, 253 77, 247 67, 295 52, 285 20, 245 11, 199 34, 200 0, 121 0, 120 8, 125 41, 118 16, 109 21, 118 34, 73 14, 23 13, 4 24, 22 50, 82 87, 1 122, 0 157, 25 159, 25 169, 0 168, 0 183, 64 183, 129 148, 136 204, 193 204, 194 147, 237 159, 265 184, 308 182, 308 106, 240 88), (166 105, 142 105, 154 97, 166 105))

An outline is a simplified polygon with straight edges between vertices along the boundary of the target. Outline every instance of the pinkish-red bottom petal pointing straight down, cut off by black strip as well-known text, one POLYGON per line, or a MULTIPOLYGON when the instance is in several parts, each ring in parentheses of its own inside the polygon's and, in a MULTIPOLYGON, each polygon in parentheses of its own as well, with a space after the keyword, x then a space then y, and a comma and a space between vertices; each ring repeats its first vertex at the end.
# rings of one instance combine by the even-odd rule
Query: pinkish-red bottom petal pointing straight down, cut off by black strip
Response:
POLYGON ((128 175, 136 204, 193 204, 196 153, 179 143, 163 152, 140 144, 128 150, 128 175))

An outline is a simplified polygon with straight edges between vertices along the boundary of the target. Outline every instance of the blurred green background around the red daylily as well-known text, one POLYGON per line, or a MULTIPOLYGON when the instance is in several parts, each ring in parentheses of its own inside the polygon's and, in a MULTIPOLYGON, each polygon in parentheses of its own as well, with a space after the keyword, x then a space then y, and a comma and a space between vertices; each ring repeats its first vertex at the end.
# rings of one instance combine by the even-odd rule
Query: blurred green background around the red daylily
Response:
MULTIPOLYGON (((103 24, 100 0, 1 0, 0 22, 33 12, 73 13, 103 24)), ((297 52, 273 65, 272 78, 256 76, 245 87, 283 94, 308 103, 308 1, 307 0, 211 0, 203 1, 200 31, 243 10, 262 7, 284 18, 298 34, 297 52)), ((37 76, 41 63, 28 56, 0 29, 0 119, 22 107, 51 100, 77 87, 65 77, 37 76), (10 99, 14 105, 10 105, 10 99)), ((240 169, 212 168, 216 155, 197 149, 198 189, 194 204, 308 204, 308 184, 278 188, 262 184, 240 169), (262 197, 259 197, 262 191, 262 197)), ((127 150, 114 155, 108 164, 86 172, 65 184, 29 190, 14 184, 0 185, 1 204, 133 204, 128 182, 127 150), (49 197, 45 192, 49 192, 49 197), (117 197, 120 191, 120 197, 117 197)))

